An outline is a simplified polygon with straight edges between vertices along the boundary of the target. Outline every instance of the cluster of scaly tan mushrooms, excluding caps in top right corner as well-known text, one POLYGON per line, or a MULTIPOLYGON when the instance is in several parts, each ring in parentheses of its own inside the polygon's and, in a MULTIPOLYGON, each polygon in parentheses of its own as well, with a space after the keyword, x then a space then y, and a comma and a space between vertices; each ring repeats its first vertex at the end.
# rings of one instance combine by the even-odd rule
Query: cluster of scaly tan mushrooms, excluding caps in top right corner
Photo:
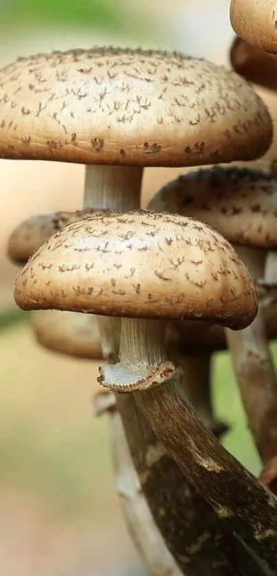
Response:
POLYGON ((43 346, 104 360, 96 413, 110 414, 122 507, 152 575, 277 571, 277 500, 221 446, 210 394, 210 355, 228 346, 268 466, 277 180, 202 169, 140 208, 145 167, 256 160, 272 134, 246 80, 177 52, 94 47, 0 70, 0 157, 85 164, 80 210, 10 236, 14 299, 43 346))

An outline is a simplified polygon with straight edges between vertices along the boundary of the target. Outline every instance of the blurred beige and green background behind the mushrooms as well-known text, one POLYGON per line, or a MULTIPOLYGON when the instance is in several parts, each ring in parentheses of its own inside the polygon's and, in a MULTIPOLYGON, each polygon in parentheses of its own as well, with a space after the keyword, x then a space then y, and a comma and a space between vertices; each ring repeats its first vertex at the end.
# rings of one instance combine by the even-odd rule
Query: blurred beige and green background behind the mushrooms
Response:
MULTIPOLYGON (((232 37, 228 0, 0 0, 1 66, 94 44, 179 49, 228 63, 232 37)), ((263 96, 274 115, 274 96, 263 96)), ((181 172, 146 170, 144 202, 181 172)), ((5 258, 21 220, 81 206, 84 169, 0 160, 0 175, 0 573, 142 576, 113 485, 109 423, 92 415, 96 366, 38 347, 27 314, 14 306, 16 268, 5 258)), ((228 355, 214 357, 213 368, 214 405, 232 427, 225 445, 257 473, 228 355)))

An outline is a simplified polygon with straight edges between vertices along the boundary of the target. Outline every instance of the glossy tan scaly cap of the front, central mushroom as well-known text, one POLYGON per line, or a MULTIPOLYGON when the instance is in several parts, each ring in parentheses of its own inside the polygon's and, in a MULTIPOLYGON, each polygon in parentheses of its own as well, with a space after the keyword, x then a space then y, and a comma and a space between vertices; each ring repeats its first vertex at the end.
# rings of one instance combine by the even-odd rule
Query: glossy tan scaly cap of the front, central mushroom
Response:
POLYGON ((208 225, 179 215, 100 212, 52 236, 16 278, 22 309, 131 318, 254 320, 250 274, 208 225))

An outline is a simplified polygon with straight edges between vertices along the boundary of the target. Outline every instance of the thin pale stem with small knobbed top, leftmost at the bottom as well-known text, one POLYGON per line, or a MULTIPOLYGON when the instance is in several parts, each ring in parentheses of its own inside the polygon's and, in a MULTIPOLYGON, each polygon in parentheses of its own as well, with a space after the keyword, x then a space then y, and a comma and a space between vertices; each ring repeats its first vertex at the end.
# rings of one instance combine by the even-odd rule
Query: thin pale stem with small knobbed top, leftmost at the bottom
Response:
POLYGON ((98 392, 93 400, 98 416, 109 414, 113 469, 126 524, 150 576, 181 576, 173 556, 157 529, 140 486, 126 434, 112 392, 98 392))

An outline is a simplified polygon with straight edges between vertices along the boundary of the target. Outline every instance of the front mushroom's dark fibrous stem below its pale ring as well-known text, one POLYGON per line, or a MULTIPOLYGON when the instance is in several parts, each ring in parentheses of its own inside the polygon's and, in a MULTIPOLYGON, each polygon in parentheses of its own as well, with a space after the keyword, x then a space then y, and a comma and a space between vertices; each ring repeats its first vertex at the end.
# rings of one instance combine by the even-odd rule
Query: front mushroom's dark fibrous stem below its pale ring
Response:
POLYGON ((201 423, 180 379, 134 396, 181 471, 216 511, 222 529, 231 530, 276 571, 277 499, 201 423))

